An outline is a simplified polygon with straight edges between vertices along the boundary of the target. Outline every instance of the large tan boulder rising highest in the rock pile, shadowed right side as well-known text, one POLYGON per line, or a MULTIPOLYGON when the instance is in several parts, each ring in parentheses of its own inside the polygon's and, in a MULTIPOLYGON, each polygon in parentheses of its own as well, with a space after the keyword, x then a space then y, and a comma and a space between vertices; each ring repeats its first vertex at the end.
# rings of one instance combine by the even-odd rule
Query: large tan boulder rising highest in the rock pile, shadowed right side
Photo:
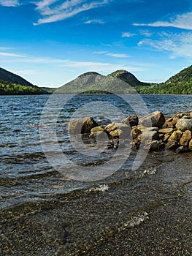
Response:
POLYGON ((139 120, 139 124, 142 124, 145 127, 162 127, 164 122, 164 114, 158 110, 139 120))

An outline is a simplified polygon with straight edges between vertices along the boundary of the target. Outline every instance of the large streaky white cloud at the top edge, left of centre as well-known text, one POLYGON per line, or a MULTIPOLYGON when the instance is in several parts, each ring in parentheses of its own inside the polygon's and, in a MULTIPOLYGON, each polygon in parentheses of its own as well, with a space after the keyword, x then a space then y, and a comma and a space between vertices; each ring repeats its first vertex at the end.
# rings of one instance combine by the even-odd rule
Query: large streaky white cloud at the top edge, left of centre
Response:
POLYGON ((34 25, 42 23, 52 23, 58 20, 65 20, 66 18, 73 17, 80 12, 85 12, 94 8, 98 8, 107 4, 109 0, 71 0, 71 1, 60 1, 60 0, 42 0, 35 4, 37 5, 36 10, 42 15, 42 18, 38 20, 34 25))

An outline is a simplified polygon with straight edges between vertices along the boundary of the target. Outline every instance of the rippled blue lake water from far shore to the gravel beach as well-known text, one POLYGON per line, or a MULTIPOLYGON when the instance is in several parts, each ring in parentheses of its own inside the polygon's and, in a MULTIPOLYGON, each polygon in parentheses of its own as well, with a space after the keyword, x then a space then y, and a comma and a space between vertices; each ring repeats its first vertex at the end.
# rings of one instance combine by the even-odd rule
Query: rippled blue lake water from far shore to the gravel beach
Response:
MULTIPOLYGON (((67 161, 61 159, 62 168, 60 167, 58 171, 51 164, 50 159, 45 157, 42 145, 45 148, 53 146, 56 139, 57 146, 72 162, 76 161, 77 165, 82 168, 83 165, 92 167, 95 161, 98 169, 99 164, 103 165, 107 157, 112 159, 115 152, 104 151, 102 154, 91 155, 89 154, 91 149, 87 149, 85 153, 88 153, 88 156, 83 156, 80 147, 77 146, 75 149, 71 145, 68 128, 71 119, 93 116, 99 124, 107 124, 120 121, 123 116, 132 113, 137 113, 139 117, 142 117, 147 112, 151 113, 155 110, 161 110, 164 116, 169 117, 179 111, 192 110, 191 95, 143 95, 142 99, 134 95, 119 97, 112 94, 74 97, 55 95, 52 96, 51 102, 45 109, 47 99, 49 99, 48 95, 0 96, 0 211, 2 213, 18 209, 18 206, 22 208, 26 206, 26 203, 44 203, 50 198, 60 198, 74 191, 93 192, 94 194, 96 191, 107 191, 110 187, 118 191, 119 184, 122 182, 128 184, 129 181, 155 176, 158 168, 161 168, 164 163, 167 163, 170 169, 175 170, 177 157, 175 158, 172 151, 150 153, 144 164, 137 170, 131 167, 137 153, 130 152, 128 160, 123 160, 123 165, 119 170, 111 170, 115 167, 114 163, 111 167, 107 166, 109 168, 107 171, 112 175, 109 174, 104 179, 97 178, 91 182, 86 182, 87 177, 85 180, 83 178, 73 180, 66 176, 70 172, 67 161), (42 112, 43 109, 44 112, 42 112), (50 123, 54 120, 56 120, 55 134, 49 130, 52 127, 50 123), (67 172, 66 168, 68 168, 67 172)), ((122 155, 125 156, 125 152, 122 155)), ((187 158, 180 157, 180 163, 183 161, 182 165, 177 165, 180 171, 187 165, 186 159, 191 159, 190 153, 187 158)), ((86 173, 86 175, 92 174, 86 173)), ((178 182, 176 176, 167 179, 170 182, 178 182)), ((191 173, 188 173, 188 181, 191 181, 191 173)), ((141 203, 137 207, 136 199, 130 205, 130 209, 136 211, 140 206, 141 203)), ((145 218, 145 214, 142 217, 145 218)), ((51 249, 49 252, 50 254, 47 252, 42 255, 54 255, 54 249, 53 252, 51 249)), ((20 255, 19 252, 18 255, 20 255)))

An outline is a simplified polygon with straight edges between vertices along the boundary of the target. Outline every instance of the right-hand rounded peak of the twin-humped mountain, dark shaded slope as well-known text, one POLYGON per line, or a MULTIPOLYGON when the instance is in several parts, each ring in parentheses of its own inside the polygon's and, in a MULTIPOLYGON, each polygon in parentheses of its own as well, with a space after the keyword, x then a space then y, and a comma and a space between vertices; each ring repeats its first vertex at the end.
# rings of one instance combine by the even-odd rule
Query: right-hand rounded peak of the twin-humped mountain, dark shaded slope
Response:
POLYGON ((143 83, 139 81, 133 74, 123 69, 112 72, 110 76, 114 78, 119 78, 126 83, 129 83, 130 86, 150 86, 149 83, 143 83))

